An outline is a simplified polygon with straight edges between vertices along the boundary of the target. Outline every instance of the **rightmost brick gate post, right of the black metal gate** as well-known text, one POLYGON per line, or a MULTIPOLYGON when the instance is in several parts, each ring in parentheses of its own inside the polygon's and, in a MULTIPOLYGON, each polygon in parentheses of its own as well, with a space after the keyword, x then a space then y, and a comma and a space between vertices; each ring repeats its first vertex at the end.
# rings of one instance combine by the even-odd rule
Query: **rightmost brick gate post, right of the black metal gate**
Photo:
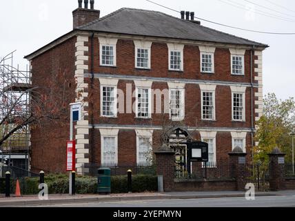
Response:
POLYGON ((285 153, 278 147, 274 148, 269 156, 269 189, 278 191, 284 188, 285 179, 285 153))

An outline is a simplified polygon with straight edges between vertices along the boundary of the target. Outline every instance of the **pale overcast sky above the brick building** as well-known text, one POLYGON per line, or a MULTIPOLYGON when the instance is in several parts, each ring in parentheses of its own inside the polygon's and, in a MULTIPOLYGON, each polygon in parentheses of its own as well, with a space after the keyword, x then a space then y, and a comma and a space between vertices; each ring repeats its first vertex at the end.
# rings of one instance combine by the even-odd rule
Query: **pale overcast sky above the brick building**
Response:
MULTIPOLYGON (((152 1, 179 11, 194 11, 196 17, 239 28, 266 32, 295 32, 293 0, 152 1)), ((17 50, 14 63, 25 66, 27 62, 23 59, 24 55, 72 30, 72 11, 77 6, 77 0, 1 1, 0 57, 17 50)), ((95 9, 101 10, 101 17, 123 7, 156 10, 180 17, 177 12, 145 0, 95 0, 95 9)), ((201 24, 268 44, 270 48, 263 53, 264 93, 276 93, 280 99, 295 97, 295 35, 265 35, 226 28, 206 21, 201 21, 201 24)))

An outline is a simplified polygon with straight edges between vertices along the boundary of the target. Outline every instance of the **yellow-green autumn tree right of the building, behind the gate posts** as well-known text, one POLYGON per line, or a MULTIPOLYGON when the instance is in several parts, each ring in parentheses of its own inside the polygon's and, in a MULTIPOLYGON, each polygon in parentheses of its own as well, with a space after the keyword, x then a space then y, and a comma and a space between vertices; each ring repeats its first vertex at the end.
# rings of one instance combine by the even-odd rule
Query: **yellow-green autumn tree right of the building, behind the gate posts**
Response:
POLYGON ((294 98, 277 99, 274 93, 265 95, 263 99, 263 116, 257 123, 254 162, 267 162, 267 153, 278 146, 286 153, 286 161, 292 162, 292 137, 289 133, 295 130, 294 98))

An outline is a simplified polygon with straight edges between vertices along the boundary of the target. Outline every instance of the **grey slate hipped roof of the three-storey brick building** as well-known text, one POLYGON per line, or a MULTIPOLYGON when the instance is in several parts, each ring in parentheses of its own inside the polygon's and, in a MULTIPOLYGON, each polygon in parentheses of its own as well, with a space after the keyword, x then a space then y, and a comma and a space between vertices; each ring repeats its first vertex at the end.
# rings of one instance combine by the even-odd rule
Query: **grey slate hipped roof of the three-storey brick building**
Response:
POLYGON ((201 26, 163 12, 121 8, 110 15, 96 19, 78 30, 112 32, 128 35, 149 37, 168 37, 173 39, 188 39, 194 41, 210 41, 223 44, 238 44, 247 46, 268 47, 261 44, 212 28, 201 26))

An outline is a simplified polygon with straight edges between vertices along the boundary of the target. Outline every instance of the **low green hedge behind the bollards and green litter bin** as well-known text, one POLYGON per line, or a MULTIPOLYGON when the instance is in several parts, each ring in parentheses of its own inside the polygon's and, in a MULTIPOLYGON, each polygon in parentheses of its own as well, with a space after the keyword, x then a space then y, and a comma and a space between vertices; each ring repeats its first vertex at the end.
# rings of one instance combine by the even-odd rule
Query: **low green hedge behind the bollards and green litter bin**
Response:
MULTIPOLYGON (((36 195, 39 193, 39 177, 24 177, 19 180, 22 195, 36 195)), ((69 191, 68 175, 45 175, 49 194, 63 194, 69 191)), ((77 176, 76 193, 97 193, 97 177, 77 176)), ((12 180, 11 193, 15 190, 15 180, 12 180)), ((156 175, 132 175, 132 192, 157 191, 156 175)), ((128 193, 127 175, 111 177, 112 193, 128 193)), ((5 179, 0 180, 0 193, 5 193, 5 179)))

